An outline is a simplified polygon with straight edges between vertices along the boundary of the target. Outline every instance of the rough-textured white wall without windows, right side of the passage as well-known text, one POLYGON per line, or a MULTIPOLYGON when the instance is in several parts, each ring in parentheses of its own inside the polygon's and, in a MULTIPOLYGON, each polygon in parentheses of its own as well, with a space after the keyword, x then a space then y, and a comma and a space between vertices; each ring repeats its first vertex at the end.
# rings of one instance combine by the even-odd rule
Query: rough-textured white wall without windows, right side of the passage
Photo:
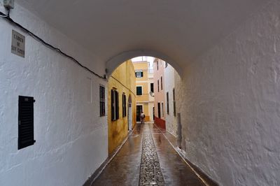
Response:
POLYGON ((183 74, 176 97, 190 162, 221 185, 280 185, 280 1, 183 74))

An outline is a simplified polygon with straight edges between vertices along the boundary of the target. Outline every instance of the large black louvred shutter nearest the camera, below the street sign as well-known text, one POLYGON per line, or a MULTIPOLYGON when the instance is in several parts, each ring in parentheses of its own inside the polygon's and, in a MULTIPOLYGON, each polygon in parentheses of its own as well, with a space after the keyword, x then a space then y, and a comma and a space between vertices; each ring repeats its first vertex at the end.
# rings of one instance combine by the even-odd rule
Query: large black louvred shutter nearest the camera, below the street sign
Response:
POLYGON ((34 98, 18 97, 18 149, 34 145, 34 98))

